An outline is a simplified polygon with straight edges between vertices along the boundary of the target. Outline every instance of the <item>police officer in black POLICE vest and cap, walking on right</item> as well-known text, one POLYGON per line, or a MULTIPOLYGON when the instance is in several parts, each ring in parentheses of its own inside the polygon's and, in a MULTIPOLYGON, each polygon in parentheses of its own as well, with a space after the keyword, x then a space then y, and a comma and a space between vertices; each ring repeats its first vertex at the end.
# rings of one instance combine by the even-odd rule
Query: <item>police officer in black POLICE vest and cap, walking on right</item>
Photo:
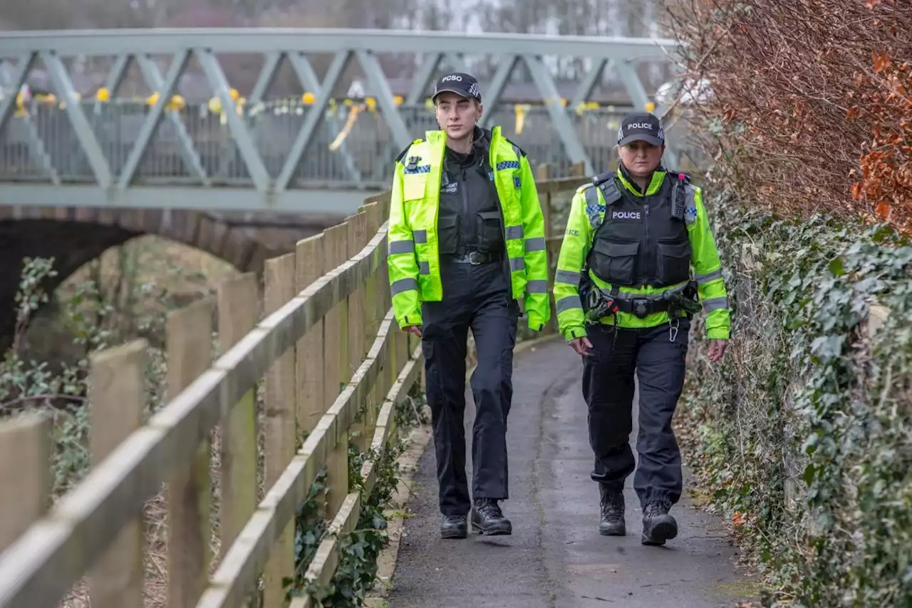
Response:
POLYGON ((712 362, 725 351, 730 328, 700 188, 686 174, 666 171, 664 151, 656 116, 633 114, 621 122, 617 173, 602 173, 576 191, 554 277, 558 326, 583 356, 591 477, 599 484, 605 535, 627 533, 623 487, 634 472, 629 435, 636 373, 634 489, 647 545, 663 545, 678 533, 668 514, 682 484, 671 418, 684 384, 690 319, 701 301, 712 362))

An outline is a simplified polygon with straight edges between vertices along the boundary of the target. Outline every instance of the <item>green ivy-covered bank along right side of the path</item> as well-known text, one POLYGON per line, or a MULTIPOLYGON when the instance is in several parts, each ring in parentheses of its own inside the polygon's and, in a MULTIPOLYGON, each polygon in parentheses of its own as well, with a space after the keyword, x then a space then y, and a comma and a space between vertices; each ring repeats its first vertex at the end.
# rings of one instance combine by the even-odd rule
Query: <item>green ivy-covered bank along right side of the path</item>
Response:
POLYGON ((764 605, 912 606, 912 247, 710 207, 733 340, 711 364, 695 324, 678 425, 698 487, 769 575, 764 605))

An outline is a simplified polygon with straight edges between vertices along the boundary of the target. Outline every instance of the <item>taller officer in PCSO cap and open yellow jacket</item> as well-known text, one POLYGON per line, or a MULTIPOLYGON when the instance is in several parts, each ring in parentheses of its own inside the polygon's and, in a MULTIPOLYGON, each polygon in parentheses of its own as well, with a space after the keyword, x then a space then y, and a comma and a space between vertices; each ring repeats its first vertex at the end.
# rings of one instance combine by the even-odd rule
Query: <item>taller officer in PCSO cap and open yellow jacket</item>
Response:
POLYGON ((431 410, 440 534, 465 538, 467 514, 484 534, 511 534, 507 414, 523 299, 528 324, 550 320, 544 217, 525 152, 500 127, 482 130, 482 94, 469 74, 441 77, 440 131, 396 159, 389 211, 389 283, 399 327, 421 338, 431 410), (465 361, 472 329, 472 501, 466 483, 465 361))

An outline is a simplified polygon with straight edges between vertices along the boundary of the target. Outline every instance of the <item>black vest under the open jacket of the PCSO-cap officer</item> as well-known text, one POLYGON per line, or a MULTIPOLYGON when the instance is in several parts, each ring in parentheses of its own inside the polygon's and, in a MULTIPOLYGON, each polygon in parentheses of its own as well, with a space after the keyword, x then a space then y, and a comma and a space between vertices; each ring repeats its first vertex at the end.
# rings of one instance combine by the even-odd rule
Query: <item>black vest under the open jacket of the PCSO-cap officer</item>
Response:
POLYGON ((441 255, 503 250, 503 219, 487 159, 486 142, 476 142, 468 157, 449 150, 440 172, 437 216, 441 255))

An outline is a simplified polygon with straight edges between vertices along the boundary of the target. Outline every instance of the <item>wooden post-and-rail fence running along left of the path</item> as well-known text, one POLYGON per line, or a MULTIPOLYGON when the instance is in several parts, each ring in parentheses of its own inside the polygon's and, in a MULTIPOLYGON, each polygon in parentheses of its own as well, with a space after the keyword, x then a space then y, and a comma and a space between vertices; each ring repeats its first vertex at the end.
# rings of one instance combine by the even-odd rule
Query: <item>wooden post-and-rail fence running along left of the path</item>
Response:
MULTIPOLYGON (((539 173, 553 276, 562 232, 554 209, 585 179, 539 173)), ((389 194, 372 197, 344 224, 267 260, 262 299, 248 273, 225 280, 215 299, 171 312, 168 403, 145 425, 146 343, 94 353, 92 468, 53 507, 47 421, 25 414, 0 424, 0 607, 51 608, 81 582, 93 608, 142 606, 142 509, 162 487, 168 606, 240 606, 261 588, 264 606, 285 605, 295 514, 323 471, 330 523, 303 578, 332 579, 339 542, 374 486, 376 455, 397 435, 395 404, 420 382, 418 343, 389 308, 388 209, 389 194), (368 455, 362 487, 348 486, 349 441, 368 455)), ((291 606, 312 602, 305 593, 291 606)))

